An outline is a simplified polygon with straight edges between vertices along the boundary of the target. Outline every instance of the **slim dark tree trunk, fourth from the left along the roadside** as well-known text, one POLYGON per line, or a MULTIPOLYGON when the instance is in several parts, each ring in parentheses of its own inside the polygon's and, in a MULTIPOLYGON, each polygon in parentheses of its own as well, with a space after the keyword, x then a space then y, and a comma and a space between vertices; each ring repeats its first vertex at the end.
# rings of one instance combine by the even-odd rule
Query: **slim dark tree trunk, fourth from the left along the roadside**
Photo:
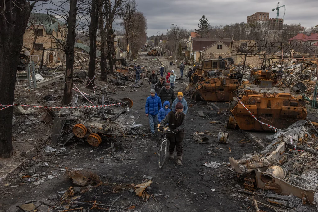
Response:
POLYGON ((102 13, 100 13, 99 16, 98 25, 100 31, 100 81, 107 82, 106 32, 104 31, 104 19, 102 13))

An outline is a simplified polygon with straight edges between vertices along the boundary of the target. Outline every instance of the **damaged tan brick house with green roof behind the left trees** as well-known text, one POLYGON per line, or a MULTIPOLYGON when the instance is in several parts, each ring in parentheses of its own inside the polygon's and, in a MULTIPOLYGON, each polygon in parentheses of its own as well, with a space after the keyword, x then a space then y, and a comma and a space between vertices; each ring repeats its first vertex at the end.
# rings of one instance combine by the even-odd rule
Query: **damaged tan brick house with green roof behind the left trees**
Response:
MULTIPOLYGON (((63 45, 67 36, 67 24, 53 15, 46 13, 31 13, 27 28, 23 36, 22 52, 28 52, 31 60, 37 63, 42 58, 44 49, 44 63, 64 61, 63 45)), ((74 58, 78 54, 89 56, 90 47, 81 43, 74 43, 74 58)), ((100 57, 100 51, 96 52, 100 57)))

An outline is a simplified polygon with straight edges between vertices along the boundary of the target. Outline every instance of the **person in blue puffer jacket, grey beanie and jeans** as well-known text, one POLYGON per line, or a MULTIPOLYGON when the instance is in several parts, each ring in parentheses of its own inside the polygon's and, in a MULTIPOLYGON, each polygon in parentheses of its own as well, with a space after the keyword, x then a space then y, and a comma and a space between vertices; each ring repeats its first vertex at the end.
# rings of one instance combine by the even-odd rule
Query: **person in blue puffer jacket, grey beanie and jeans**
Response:
POLYGON ((158 122, 158 113, 162 108, 160 97, 157 96, 154 89, 150 90, 150 96, 146 99, 145 112, 149 118, 151 136, 155 135, 155 129, 158 122))

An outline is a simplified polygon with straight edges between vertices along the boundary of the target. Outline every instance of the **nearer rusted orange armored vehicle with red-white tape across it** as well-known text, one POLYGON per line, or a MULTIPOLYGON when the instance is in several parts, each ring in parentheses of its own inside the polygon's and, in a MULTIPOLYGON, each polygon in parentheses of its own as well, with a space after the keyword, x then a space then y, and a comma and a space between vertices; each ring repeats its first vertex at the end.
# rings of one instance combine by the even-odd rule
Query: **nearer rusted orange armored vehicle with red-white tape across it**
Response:
POLYGON ((305 102, 298 95, 307 89, 306 86, 297 83, 290 89, 284 78, 280 79, 279 73, 270 68, 250 71, 248 81, 242 83, 230 101, 232 116, 227 127, 270 131, 306 119, 305 102))

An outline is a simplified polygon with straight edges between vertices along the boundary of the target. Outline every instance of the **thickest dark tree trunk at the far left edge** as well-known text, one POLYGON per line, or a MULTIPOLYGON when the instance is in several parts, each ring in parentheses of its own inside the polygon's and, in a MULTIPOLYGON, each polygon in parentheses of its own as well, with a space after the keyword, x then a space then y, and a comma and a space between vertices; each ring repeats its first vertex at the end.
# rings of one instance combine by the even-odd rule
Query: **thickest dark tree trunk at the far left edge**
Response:
MULTIPOLYGON (((3 89, 0 104, 3 105, 13 104, 18 59, 31 9, 32 6, 26 0, 0 2, 0 87, 3 89), (6 8, 6 11, 3 11, 3 8, 6 8)), ((1 108, 3 107, 0 106, 1 108)), ((12 106, 0 111, 2 158, 9 158, 13 154, 12 115, 12 106)))

